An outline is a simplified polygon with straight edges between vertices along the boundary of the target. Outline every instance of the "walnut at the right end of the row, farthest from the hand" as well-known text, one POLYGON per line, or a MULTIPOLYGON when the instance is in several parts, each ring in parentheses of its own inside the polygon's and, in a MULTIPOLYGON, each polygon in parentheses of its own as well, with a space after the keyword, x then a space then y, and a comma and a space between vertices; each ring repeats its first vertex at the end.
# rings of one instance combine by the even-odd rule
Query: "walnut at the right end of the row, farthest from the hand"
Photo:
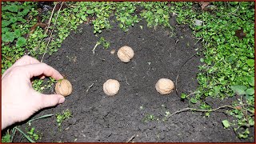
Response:
POLYGON ((161 78, 155 84, 155 89, 160 94, 170 94, 174 90, 174 82, 168 78, 161 78))

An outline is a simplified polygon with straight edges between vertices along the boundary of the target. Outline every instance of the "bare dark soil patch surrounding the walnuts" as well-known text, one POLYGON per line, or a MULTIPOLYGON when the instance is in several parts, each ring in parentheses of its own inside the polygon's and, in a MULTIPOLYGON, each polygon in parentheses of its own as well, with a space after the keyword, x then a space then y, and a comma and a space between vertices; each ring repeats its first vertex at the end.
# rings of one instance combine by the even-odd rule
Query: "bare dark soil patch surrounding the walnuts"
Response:
MULTIPOLYGON (((146 22, 140 22, 126 33, 114 25, 97 37, 90 24, 71 32, 58 52, 46 56, 44 62, 66 75, 73 84, 73 93, 62 105, 42 110, 34 117, 66 109, 73 117, 62 123, 61 131, 54 116, 32 122, 31 126, 42 133, 38 142, 244 142, 236 138, 234 130, 223 128, 222 120, 230 120, 225 110, 213 112, 209 118, 190 111, 165 117, 166 112, 172 114, 190 106, 188 101, 181 101, 180 94, 196 90, 196 74, 202 65, 201 57, 196 55, 202 45, 188 26, 177 26, 174 18, 170 23, 173 31, 160 26, 148 28, 146 22), (93 54, 91 50, 101 37, 110 42, 110 48, 98 46, 93 54), (134 50, 134 58, 128 63, 116 55, 122 46, 134 50), (110 54, 110 50, 116 52, 110 54), (159 78, 170 78, 175 83, 177 76, 178 94, 158 94, 154 85, 159 78), (121 84, 115 96, 107 96, 102 90, 110 78, 121 84)), ((207 102, 216 108, 233 100, 208 98, 207 102)), ((23 124, 21 128, 26 131, 31 126, 23 124)), ((21 137, 16 134, 14 142, 26 142, 21 137)))

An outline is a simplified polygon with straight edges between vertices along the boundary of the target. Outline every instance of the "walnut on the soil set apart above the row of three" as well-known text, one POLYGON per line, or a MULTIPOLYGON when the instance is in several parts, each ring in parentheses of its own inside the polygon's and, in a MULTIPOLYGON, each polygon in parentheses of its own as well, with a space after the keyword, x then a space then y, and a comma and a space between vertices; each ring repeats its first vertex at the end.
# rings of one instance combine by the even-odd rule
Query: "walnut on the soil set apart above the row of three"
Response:
POLYGON ((130 59, 134 58, 134 50, 129 46, 122 46, 118 50, 118 58, 122 62, 130 62, 130 59))

